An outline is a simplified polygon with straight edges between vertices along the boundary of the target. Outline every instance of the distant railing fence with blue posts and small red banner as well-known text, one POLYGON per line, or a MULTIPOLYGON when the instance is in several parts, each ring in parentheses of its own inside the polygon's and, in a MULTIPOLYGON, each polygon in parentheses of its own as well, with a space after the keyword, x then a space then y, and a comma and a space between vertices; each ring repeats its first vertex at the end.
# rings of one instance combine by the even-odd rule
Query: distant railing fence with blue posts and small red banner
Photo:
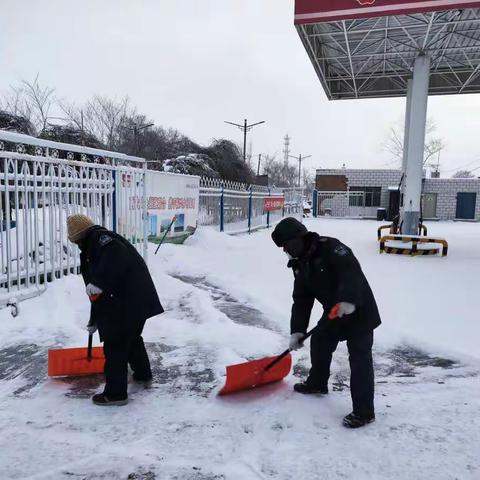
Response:
POLYGON ((200 181, 199 223, 218 226, 221 232, 251 232, 302 213, 298 189, 269 189, 211 178, 200 181))

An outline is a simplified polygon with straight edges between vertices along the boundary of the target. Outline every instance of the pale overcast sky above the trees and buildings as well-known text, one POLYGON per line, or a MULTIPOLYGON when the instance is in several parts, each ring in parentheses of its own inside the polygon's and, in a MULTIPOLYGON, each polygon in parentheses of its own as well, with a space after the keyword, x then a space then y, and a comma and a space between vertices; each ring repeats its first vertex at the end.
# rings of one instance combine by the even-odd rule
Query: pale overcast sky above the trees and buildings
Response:
MULTIPOLYGON (((312 155, 309 168, 386 168, 404 99, 329 102, 293 25, 293 0, 1 0, 0 94, 21 79, 82 103, 128 95, 201 144, 255 127, 252 151, 312 155)), ((480 95, 429 99, 445 176, 480 167, 480 95)), ((292 160, 293 162, 294 160, 292 160)), ((311 170, 313 173, 313 170, 311 170)), ((477 170, 480 172, 480 169, 477 170)))

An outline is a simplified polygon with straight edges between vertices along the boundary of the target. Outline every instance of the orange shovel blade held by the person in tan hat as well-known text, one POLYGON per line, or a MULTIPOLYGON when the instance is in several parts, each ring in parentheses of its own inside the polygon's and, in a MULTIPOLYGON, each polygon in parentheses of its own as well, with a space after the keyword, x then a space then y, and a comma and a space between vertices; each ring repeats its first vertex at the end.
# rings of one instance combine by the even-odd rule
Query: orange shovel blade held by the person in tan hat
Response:
POLYGON ((103 347, 93 347, 88 358, 87 348, 55 348, 48 351, 48 376, 66 377, 103 373, 103 347))

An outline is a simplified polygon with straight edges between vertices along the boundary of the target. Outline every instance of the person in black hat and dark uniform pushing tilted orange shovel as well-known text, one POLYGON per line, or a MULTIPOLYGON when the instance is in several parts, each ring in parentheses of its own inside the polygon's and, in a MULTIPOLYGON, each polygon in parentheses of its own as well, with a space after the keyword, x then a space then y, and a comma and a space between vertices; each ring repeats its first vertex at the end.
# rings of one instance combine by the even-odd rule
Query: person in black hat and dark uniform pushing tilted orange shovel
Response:
POLYGON ((275 227, 272 239, 286 252, 290 259, 288 267, 295 276, 291 350, 303 346, 315 299, 324 311, 311 337, 312 368, 306 381, 294 386, 295 391, 327 394, 332 354, 338 342, 346 340, 353 412, 343 419, 343 424, 357 428, 374 421, 373 330, 381 321, 358 260, 336 238, 309 232, 291 217, 275 227))

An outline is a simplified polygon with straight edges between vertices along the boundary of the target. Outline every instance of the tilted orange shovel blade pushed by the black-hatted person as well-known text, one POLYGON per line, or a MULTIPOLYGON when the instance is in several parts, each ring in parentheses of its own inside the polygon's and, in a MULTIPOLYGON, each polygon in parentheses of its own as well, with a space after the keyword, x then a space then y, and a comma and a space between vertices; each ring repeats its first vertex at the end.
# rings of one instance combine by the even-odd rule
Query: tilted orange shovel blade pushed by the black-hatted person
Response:
POLYGON ((225 386, 218 392, 219 395, 248 390, 267 383, 278 382, 285 378, 292 367, 290 354, 282 358, 272 368, 265 371, 265 367, 277 357, 265 357, 250 362, 238 363, 227 367, 225 386))

